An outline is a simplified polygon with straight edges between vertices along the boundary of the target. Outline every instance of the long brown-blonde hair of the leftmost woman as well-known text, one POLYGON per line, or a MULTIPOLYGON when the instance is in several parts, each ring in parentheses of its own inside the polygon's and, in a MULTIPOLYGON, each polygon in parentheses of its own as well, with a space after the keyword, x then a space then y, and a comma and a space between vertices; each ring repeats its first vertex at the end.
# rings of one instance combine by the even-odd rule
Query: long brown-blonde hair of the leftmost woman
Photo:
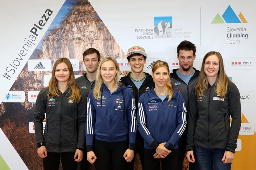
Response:
POLYGON ((47 94, 47 98, 50 99, 51 97, 59 96, 61 93, 58 91, 58 80, 55 77, 56 67, 59 63, 65 63, 69 70, 69 78, 67 80, 67 87, 69 89, 69 93, 72 93, 69 99, 74 102, 79 102, 81 99, 81 95, 79 92, 78 87, 76 87, 75 78, 74 78, 74 71, 71 62, 67 58, 59 58, 55 61, 53 69, 52 69, 52 77, 49 81, 49 92, 47 94))

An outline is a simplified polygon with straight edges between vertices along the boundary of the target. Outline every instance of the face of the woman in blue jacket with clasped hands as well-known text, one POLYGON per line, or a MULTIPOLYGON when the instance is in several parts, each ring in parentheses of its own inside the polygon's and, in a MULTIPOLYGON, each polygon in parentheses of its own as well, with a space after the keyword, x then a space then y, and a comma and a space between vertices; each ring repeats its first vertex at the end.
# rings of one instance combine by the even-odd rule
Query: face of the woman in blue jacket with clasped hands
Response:
POLYGON ((159 67, 154 73, 152 73, 152 77, 156 87, 165 87, 166 83, 169 81, 168 69, 165 66, 159 67))

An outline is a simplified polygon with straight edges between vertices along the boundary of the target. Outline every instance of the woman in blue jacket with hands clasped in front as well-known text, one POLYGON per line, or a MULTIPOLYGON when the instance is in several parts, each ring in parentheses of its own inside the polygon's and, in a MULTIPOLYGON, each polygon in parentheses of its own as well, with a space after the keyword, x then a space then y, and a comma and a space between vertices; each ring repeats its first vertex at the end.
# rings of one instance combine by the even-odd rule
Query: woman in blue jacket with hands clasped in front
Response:
POLYGON ((166 62, 152 67, 155 87, 143 93, 138 102, 138 130, 144 138, 144 170, 178 169, 178 141, 186 128, 183 96, 173 90, 166 62))

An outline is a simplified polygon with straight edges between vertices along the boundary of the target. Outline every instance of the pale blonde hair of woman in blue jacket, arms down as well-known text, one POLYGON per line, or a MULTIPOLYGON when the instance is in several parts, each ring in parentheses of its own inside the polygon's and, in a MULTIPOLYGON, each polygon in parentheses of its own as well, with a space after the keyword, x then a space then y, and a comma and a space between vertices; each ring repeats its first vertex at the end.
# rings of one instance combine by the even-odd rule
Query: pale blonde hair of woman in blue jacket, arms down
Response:
POLYGON ((92 92, 95 99, 99 99, 100 93, 102 93, 101 90, 102 90, 103 79, 100 75, 100 69, 101 69, 102 64, 105 63, 106 61, 112 61, 116 67, 116 70, 118 70, 118 73, 116 74, 115 79, 114 79, 114 82, 116 83, 116 85, 118 84, 120 69, 119 69, 116 59, 114 59, 112 57, 106 57, 106 58, 102 59, 102 61, 100 62, 100 65, 98 67, 97 73, 96 73, 95 87, 92 92))

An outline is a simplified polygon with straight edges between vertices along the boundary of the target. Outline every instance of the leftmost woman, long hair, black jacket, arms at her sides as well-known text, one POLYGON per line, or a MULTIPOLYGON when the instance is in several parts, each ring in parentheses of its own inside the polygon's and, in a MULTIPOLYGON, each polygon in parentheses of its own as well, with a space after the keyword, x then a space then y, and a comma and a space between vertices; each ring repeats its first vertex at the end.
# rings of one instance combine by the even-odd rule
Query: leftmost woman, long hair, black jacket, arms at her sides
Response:
POLYGON ((86 97, 75 85, 69 59, 57 59, 49 86, 38 94, 34 114, 37 153, 45 170, 58 170, 60 160, 64 170, 76 169, 76 162, 82 160, 86 97))

